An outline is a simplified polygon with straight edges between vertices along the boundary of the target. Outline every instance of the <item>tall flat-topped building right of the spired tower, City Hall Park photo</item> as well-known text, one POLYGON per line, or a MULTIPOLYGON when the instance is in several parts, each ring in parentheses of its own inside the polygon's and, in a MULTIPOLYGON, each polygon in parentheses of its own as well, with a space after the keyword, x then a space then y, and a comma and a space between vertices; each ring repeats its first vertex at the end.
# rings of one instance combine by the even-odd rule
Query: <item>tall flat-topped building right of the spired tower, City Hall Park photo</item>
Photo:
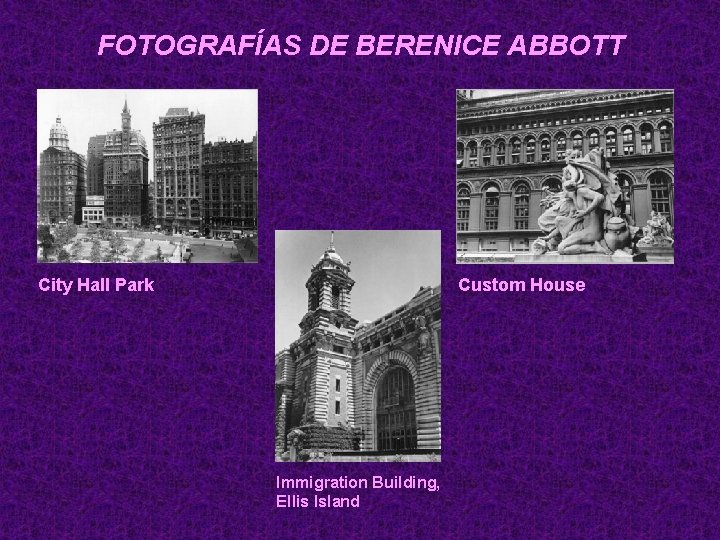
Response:
POLYGON ((153 124, 155 223, 174 232, 200 232, 205 115, 168 109, 153 124))

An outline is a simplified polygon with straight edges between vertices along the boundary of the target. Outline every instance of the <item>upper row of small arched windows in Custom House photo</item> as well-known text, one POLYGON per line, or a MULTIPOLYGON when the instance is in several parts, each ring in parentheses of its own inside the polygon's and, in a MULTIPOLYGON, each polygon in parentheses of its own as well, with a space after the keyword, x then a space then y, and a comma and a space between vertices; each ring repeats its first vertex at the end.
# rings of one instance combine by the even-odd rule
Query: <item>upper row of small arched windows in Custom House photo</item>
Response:
MULTIPOLYGON (((591 130, 587 136, 581 132, 572 132, 568 138, 564 133, 558 133, 554 139, 549 135, 542 135, 539 139, 535 135, 528 135, 524 139, 513 137, 508 144, 500 139, 494 144, 490 141, 482 141, 478 146, 477 141, 470 141, 467 145, 461 142, 457 144, 457 159, 465 160, 470 167, 483 167, 492 165, 505 165, 506 163, 535 163, 540 161, 547 163, 552 161, 563 161, 569 150, 577 150, 585 153, 600 148, 601 145, 607 156, 633 155, 637 152, 652 154, 657 151, 672 152, 673 132, 669 122, 663 122, 658 127, 659 148, 656 148, 654 140, 654 129, 650 124, 640 126, 640 140, 636 138, 635 129, 626 126, 618 132, 615 128, 607 128, 603 135, 605 137, 602 145, 601 134, 598 130, 591 130), (587 139, 587 141, 586 141, 587 139), (620 153, 622 149, 622 153, 620 153), (553 156, 554 151, 554 156, 553 156)), ((464 163, 463 163, 464 165, 464 163)))

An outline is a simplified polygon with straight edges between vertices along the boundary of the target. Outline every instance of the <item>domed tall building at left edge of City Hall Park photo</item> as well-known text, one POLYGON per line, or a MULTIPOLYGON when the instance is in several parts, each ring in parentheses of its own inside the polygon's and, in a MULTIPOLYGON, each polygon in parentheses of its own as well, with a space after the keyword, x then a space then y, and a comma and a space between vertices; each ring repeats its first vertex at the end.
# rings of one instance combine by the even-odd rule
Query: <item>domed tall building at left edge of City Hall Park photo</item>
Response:
POLYGON ((50 129, 50 146, 38 166, 39 223, 82 222, 85 204, 85 157, 70 150, 60 117, 50 129))

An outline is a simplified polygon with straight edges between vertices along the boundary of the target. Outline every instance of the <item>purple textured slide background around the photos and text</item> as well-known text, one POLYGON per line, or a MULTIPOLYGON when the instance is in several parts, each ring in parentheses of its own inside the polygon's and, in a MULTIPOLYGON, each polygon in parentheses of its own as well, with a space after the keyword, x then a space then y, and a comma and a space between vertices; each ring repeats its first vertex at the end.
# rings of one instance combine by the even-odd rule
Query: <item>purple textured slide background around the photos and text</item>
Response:
MULTIPOLYGON (((3 537, 713 537, 718 61, 709 2, 2 7, 3 537), (627 33, 618 57, 98 58, 103 33, 627 33), (257 265, 35 262, 37 88, 259 88, 257 265), (674 88, 674 266, 456 266, 455 88, 674 88), (273 231, 441 228, 443 462, 273 462, 273 231), (154 295, 42 294, 44 276, 154 295), (463 295, 459 277, 584 279, 463 295), (276 510, 275 474, 438 494, 276 510)), ((82 145, 73 143, 76 149, 82 145)))

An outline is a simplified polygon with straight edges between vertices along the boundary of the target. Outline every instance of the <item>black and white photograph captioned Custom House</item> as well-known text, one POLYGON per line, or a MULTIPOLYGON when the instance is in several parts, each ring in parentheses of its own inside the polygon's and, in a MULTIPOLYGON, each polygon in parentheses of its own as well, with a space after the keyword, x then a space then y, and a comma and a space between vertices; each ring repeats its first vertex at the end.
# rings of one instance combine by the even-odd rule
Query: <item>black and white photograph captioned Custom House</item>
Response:
POLYGON ((673 90, 456 90, 458 263, 674 263, 673 90))

